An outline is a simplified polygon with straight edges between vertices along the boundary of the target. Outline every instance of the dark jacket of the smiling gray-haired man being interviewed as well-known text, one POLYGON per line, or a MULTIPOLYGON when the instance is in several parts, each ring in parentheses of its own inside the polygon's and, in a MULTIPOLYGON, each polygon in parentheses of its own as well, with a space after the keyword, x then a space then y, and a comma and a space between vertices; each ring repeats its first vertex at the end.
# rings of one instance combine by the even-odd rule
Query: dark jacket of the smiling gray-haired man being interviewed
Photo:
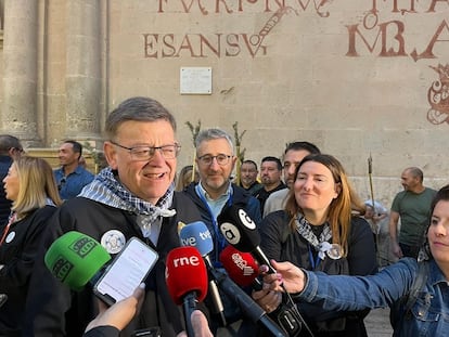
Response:
MULTIPOLYGON (((176 216, 164 218, 157 246, 142 236, 136 223, 134 213, 105 206, 103 204, 76 197, 63 204, 53 217, 51 232, 46 246, 54 238, 68 231, 78 231, 101 241, 104 233, 117 230, 128 241, 137 236, 159 255, 159 259, 146 278, 146 295, 140 315, 134 317, 121 333, 129 336, 134 329, 161 326, 164 336, 176 336, 183 329, 182 309, 175 304, 165 282, 165 261, 167 254, 180 246, 178 222, 189 223, 200 220, 200 213, 191 200, 182 194, 175 193, 172 209, 176 216)), ((97 315, 97 299, 92 287, 86 286, 82 291, 69 291, 59 283, 39 261, 39 271, 33 275, 37 291, 30 301, 27 322, 27 336, 81 336, 86 325, 97 315)))

